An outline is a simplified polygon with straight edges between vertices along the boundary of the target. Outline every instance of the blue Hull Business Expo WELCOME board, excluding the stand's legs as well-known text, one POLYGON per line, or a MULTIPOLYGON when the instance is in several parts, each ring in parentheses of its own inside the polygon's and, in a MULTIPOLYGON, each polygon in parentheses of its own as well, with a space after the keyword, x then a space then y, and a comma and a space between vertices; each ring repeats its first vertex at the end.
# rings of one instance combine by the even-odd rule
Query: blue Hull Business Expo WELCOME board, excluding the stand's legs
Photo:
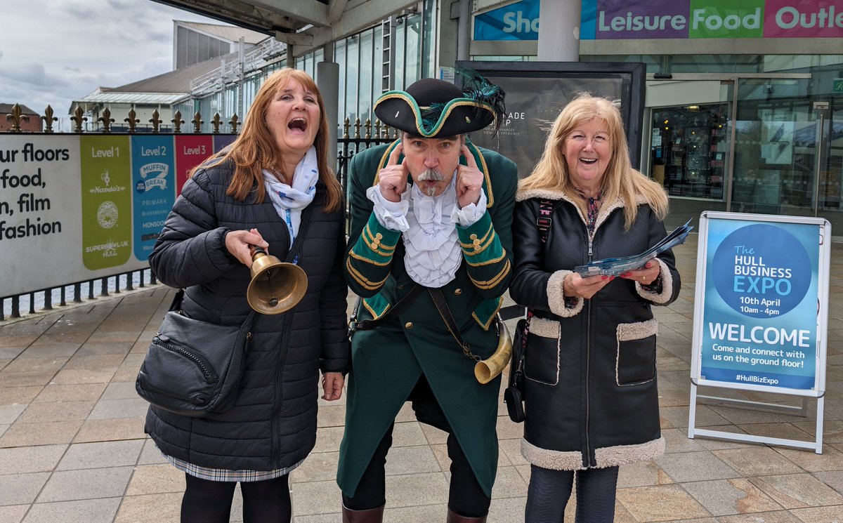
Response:
POLYGON ((703 213, 700 234, 692 377, 822 390, 828 221, 703 213))

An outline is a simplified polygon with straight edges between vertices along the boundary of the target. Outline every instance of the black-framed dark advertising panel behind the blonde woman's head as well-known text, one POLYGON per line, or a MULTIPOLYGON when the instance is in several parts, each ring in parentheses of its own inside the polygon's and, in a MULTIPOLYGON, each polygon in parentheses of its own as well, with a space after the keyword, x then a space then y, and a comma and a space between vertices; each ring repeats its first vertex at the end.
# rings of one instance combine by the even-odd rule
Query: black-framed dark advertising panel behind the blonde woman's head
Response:
MULTIPOLYGON (((500 152, 518 164, 524 178, 539 161, 553 120, 577 93, 589 92, 620 102, 632 166, 641 165, 644 122, 642 63, 582 61, 458 61, 507 93, 507 115, 497 136, 492 127, 471 135, 475 144, 500 152)), ((457 75, 459 85, 461 77, 457 75)))

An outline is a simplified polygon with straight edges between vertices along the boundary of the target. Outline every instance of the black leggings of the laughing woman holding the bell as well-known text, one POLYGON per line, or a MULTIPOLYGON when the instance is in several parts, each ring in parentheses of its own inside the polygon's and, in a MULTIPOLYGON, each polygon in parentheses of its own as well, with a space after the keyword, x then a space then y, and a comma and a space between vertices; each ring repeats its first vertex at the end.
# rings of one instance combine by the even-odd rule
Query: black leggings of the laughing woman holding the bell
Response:
MULTIPOLYGON (((292 515, 287 475, 240 483, 243 523, 289 523, 292 515)), ((236 482, 209 481, 185 474, 181 523, 228 523, 236 482)))

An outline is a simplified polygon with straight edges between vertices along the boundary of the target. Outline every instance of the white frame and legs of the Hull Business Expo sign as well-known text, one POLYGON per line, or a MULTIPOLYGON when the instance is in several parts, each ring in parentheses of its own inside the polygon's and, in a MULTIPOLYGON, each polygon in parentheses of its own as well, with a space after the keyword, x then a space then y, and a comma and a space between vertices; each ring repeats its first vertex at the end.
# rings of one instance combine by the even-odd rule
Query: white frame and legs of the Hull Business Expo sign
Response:
POLYGON ((795 446, 799 448, 813 449, 817 454, 823 452, 823 421, 824 421, 824 395, 825 395, 825 368, 828 344, 828 318, 829 318, 829 280, 830 280, 830 259, 831 259, 831 224, 824 218, 813 218, 804 216, 772 216, 760 214, 748 214, 737 212, 716 212, 705 211, 700 215, 700 240, 697 246, 696 280, 694 296, 694 334, 691 346, 691 368, 690 368, 690 409, 688 414, 688 437, 694 439, 696 435, 721 438, 726 440, 752 441, 770 445, 795 446), (817 333, 816 333, 816 354, 814 367, 813 387, 800 389, 791 387, 773 387, 769 385, 758 385, 751 383, 721 382, 706 379, 701 376, 702 368, 702 343, 704 338, 703 318, 706 312, 706 276, 708 275, 707 254, 708 254, 708 230, 710 220, 736 220, 736 221, 765 221, 771 223, 797 223, 816 225, 819 227, 819 267, 817 294, 819 309, 817 312, 817 333), (697 394, 697 387, 719 387, 728 389, 739 389, 754 392, 771 392, 776 394, 787 394, 803 398, 802 407, 782 406, 775 403, 753 402, 735 398, 716 398, 697 394), (743 405, 747 408, 765 408, 778 412, 790 412, 796 410, 801 415, 806 415, 808 410, 808 398, 817 399, 817 423, 815 439, 813 441, 789 440, 784 438, 772 438, 760 435, 738 434, 723 430, 699 429, 695 426, 696 402, 698 398, 714 399, 719 403, 732 403, 743 405))

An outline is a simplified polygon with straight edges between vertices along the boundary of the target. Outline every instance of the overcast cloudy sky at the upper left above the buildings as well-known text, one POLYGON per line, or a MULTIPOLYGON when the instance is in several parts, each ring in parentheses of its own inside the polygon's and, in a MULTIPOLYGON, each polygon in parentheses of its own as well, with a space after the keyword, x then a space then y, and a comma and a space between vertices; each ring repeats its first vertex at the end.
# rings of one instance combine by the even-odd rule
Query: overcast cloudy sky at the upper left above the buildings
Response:
MULTIPOLYGON (((0 103, 67 120, 73 99, 172 71, 173 20, 222 24, 152 0, 0 0, 0 103)), ((69 124, 65 125, 69 128, 69 124)))

